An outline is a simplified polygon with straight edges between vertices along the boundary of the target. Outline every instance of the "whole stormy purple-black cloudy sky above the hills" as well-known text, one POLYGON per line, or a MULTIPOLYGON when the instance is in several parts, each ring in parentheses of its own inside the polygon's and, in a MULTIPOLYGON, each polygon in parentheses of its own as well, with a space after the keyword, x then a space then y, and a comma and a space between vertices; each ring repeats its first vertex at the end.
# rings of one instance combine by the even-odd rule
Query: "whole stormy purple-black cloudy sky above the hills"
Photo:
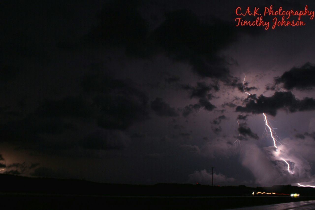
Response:
POLYGON ((214 167, 214 184, 315 184, 315 20, 235 26, 237 7, 270 5, 315 10, 2 2, 0 173, 211 184, 214 167))

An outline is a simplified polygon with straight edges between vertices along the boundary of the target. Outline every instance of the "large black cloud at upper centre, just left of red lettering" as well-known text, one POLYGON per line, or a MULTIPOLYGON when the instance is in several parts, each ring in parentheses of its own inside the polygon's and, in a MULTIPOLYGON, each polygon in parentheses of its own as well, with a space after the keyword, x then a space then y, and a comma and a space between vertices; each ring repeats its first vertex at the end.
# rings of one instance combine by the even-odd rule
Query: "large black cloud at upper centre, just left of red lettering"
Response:
POLYGON ((167 55, 189 62, 198 75, 229 75, 228 62, 218 52, 235 40, 232 24, 219 20, 206 23, 192 11, 182 9, 167 14, 154 36, 167 55))

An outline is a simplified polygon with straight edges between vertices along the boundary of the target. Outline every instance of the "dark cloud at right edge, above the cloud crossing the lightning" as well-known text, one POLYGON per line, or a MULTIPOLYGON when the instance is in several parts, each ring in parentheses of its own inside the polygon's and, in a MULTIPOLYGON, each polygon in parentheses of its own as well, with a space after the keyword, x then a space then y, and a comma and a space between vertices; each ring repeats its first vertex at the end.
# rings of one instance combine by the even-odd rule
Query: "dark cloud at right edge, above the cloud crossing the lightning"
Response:
POLYGON ((287 90, 306 90, 315 87, 315 65, 306 63, 302 67, 293 67, 275 78, 276 84, 282 83, 287 90))

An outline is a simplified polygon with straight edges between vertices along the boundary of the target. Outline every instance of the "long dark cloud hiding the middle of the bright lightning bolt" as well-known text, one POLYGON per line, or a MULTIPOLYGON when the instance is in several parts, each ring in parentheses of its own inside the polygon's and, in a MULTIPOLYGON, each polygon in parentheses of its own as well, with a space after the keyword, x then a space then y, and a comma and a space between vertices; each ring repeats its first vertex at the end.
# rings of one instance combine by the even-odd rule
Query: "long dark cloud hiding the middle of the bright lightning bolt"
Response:
POLYGON ((266 113, 275 116, 278 109, 285 109, 289 112, 314 110, 315 100, 307 97, 303 100, 296 99, 290 91, 275 92, 270 97, 251 95, 247 99, 246 105, 238 106, 236 111, 253 114, 266 113))

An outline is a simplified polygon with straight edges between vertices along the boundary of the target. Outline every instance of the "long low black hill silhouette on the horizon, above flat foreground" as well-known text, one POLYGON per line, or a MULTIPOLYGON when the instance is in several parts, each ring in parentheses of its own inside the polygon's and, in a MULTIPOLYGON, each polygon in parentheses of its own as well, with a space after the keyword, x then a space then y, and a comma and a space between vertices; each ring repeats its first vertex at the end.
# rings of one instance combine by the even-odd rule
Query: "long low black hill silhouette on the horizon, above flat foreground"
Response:
POLYGON ((252 192, 260 191, 315 196, 314 188, 291 185, 253 188, 244 185, 212 187, 201 184, 105 184, 77 179, 30 178, 8 174, 0 174, 0 182, 0 192, 3 193, 112 196, 252 196, 252 192))

